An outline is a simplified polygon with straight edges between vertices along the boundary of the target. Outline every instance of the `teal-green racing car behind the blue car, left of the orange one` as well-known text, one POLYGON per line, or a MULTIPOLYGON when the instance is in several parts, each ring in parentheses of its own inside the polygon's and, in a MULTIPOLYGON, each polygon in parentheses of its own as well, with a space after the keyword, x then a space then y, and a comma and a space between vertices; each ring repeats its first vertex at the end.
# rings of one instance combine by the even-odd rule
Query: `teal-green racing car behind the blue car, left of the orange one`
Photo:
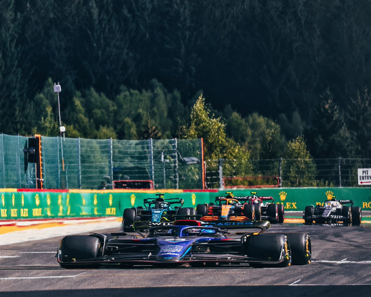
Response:
MULTIPOLYGON (((194 208, 182 207, 184 203, 183 199, 164 199, 164 194, 156 194, 156 196, 157 198, 144 199, 144 207, 139 206, 124 209, 124 214, 122 215, 122 226, 124 230, 132 230, 132 225, 136 221, 167 223, 173 222, 176 218, 189 219, 192 215, 196 215, 194 208)), ((195 219, 196 216, 191 218, 195 219)))

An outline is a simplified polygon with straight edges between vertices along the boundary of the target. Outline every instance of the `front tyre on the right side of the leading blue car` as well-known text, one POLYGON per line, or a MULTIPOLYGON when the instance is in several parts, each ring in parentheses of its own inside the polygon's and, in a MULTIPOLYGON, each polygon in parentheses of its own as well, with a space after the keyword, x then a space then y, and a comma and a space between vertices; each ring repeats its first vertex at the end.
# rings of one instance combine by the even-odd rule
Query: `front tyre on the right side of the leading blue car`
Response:
POLYGON ((282 234, 266 233, 247 236, 246 242, 243 242, 243 254, 256 259, 256 261, 249 262, 252 267, 288 267, 291 265, 290 245, 287 237, 282 234), (262 263, 270 261, 272 263, 262 263))

